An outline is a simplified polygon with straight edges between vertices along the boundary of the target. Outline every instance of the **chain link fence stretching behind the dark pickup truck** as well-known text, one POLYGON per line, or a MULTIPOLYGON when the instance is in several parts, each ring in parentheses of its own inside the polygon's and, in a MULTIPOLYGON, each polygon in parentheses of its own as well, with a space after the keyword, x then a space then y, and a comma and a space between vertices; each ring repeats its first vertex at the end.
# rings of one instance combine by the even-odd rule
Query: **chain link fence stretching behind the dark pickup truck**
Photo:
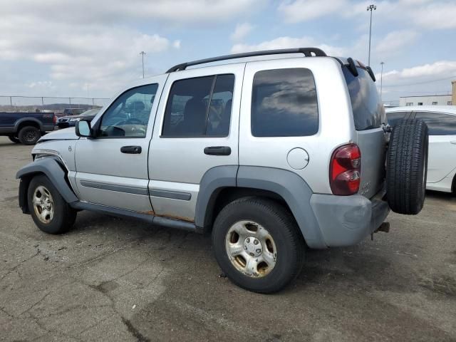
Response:
POLYGON ((0 112, 63 113, 67 108, 101 108, 108 98, 51 98, 45 96, 1 96, 0 112))

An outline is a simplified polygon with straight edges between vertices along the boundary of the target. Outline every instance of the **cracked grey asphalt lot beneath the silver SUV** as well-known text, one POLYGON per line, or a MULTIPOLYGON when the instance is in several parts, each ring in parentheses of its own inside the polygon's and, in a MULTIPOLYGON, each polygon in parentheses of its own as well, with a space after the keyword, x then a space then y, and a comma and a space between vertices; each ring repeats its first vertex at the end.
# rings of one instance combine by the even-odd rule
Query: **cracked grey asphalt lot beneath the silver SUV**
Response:
POLYGON ((456 197, 309 251, 260 295, 220 275, 209 237, 90 212, 44 234, 18 207, 30 150, 0 137, 0 341, 456 341, 456 197))

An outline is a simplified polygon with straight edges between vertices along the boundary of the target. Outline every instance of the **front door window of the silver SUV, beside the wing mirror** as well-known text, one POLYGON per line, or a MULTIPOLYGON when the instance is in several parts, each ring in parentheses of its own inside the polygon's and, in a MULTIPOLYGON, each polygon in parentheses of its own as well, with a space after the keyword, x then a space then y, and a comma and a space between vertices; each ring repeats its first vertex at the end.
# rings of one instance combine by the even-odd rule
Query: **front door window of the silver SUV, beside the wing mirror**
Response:
POLYGON ((103 114, 98 136, 145 138, 157 88, 157 84, 147 84, 120 95, 103 114))

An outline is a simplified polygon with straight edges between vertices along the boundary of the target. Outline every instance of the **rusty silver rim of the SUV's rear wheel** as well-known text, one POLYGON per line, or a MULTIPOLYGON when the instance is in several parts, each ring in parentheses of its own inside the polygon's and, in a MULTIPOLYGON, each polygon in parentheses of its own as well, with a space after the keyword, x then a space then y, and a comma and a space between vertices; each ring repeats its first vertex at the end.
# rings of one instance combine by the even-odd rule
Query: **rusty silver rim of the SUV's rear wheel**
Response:
POLYGON ((229 261, 240 272, 252 278, 269 274, 277 263, 277 249, 271 234, 261 224, 239 221, 225 237, 229 261))

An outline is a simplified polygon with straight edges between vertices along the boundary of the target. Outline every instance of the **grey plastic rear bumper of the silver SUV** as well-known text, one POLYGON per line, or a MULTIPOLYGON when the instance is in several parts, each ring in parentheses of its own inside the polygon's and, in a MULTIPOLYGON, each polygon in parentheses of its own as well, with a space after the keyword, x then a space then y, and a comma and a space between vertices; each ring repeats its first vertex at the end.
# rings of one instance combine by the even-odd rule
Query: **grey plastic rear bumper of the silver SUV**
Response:
POLYGON ((311 207, 327 247, 357 244, 374 232, 390 212, 384 191, 368 199, 361 195, 314 194, 311 207))

